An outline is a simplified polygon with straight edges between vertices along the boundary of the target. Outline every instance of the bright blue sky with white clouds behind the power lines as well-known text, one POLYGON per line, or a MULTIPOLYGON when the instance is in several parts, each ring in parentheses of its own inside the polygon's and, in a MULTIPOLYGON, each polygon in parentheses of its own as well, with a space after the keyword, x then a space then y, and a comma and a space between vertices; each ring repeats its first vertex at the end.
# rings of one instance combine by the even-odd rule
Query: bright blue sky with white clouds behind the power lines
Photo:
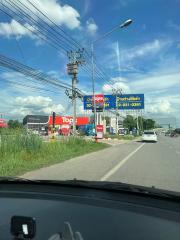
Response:
MULTIPOLYGON (((25 0, 21 2, 28 4, 25 0)), ((133 19, 131 26, 119 29, 95 45, 97 63, 106 73, 103 79, 96 78, 96 91, 110 93, 112 87, 120 87, 124 93, 144 93, 146 114, 176 116, 180 125, 180 0, 31 2, 87 50, 91 41, 124 20, 133 19)), ((66 74, 66 55, 27 31, 24 28, 26 19, 22 20, 20 25, 0 13, 0 53, 70 83, 66 74)), ((70 100, 63 91, 31 91, 10 84, 7 80, 26 84, 29 80, 2 67, 0 69, 0 112, 6 117, 49 114, 53 110, 71 112, 70 100)), ((78 87, 91 93, 90 74, 80 70, 78 78, 78 87)), ((78 110, 82 112, 81 102, 78 110)))

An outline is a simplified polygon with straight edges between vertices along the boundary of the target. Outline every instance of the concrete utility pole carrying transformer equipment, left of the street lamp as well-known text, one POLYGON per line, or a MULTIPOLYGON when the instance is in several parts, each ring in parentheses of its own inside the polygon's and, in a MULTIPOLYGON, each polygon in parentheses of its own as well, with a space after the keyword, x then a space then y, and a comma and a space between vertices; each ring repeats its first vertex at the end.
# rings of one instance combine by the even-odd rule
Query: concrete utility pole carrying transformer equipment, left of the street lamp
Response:
POLYGON ((76 135, 76 98, 78 97, 76 91, 78 66, 84 64, 85 60, 83 57, 84 49, 79 49, 78 51, 67 52, 69 58, 69 63, 67 64, 67 72, 72 76, 72 93, 66 91, 69 98, 72 99, 73 105, 73 135, 76 135))

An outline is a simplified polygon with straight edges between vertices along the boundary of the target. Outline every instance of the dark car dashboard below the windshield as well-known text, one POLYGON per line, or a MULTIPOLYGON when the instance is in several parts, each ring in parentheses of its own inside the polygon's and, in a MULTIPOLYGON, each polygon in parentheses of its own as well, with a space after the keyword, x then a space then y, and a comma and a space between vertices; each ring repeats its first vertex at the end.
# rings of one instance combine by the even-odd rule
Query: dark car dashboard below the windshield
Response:
POLYGON ((180 202, 159 196, 12 182, 1 184, 0 206, 1 240, 26 239, 13 236, 13 217, 34 220, 29 239, 180 239, 180 202), (67 225, 74 237, 63 237, 67 225))

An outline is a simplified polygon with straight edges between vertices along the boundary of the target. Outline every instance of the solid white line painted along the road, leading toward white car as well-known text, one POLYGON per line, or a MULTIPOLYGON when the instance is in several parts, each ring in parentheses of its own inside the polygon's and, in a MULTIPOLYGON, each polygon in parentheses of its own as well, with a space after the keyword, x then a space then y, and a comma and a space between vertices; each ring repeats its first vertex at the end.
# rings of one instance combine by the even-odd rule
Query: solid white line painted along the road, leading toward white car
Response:
POLYGON ((129 158, 131 158, 137 151, 139 151, 145 143, 141 144, 138 148, 136 148, 133 152, 131 152, 127 157, 125 157, 121 162, 119 162, 115 167, 113 167, 108 173, 106 173, 100 181, 105 181, 110 178, 118 169, 120 169, 129 158))

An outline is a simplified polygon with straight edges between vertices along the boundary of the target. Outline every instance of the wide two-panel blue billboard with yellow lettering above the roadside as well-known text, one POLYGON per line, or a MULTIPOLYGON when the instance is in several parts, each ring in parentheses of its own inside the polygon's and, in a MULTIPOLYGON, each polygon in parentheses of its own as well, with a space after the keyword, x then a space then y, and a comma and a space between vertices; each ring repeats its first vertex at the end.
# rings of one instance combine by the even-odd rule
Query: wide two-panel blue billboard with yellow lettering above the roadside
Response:
MULTIPOLYGON (((84 96, 83 103, 84 110, 92 110, 92 95, 84 96)), ((117 108, 120 110, 144 109, 144 94, 122 94, 117 96, 117 108)), ((116 109, 115 95, 104 95, 104 109, 116 109)))

